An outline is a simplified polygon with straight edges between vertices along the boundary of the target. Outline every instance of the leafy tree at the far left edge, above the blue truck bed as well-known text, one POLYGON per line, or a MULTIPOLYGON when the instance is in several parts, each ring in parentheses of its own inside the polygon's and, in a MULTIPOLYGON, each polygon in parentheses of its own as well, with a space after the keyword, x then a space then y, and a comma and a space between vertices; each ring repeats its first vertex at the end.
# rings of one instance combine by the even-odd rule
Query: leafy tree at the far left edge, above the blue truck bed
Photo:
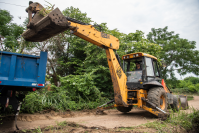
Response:
POLYGON ((24 28, 11 23, 12 16, 6 10, 0 10, 0 41, 2 51, 20 51, 21 44, 18 42, 24 28))

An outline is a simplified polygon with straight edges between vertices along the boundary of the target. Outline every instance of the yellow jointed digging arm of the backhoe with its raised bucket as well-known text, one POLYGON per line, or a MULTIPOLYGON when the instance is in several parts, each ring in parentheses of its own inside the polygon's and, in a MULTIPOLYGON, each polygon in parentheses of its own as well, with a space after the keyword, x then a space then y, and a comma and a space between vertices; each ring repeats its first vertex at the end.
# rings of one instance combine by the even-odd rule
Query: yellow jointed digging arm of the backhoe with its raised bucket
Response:
MULTIPOLYGON (((38 3, 35 5, 38 6, 38 3)), ((27 41, 41 42, 62 33, 65 30, 71 30, 72 34, 94 45, 104 48, 106 50, 107 61, 113 82, 115 103, 125 107, 128 106, 126 86, 127 77, 114 53, 114 50, 119 49, 118 38, 99 32, 92 25, 83 25, 69 21, 58 8, 44 17, 39 14, 39 11, 37 11, 33 19, 30 20, 31 22, 29 22, 28 29, 22 34, 24 39, 27 41)))

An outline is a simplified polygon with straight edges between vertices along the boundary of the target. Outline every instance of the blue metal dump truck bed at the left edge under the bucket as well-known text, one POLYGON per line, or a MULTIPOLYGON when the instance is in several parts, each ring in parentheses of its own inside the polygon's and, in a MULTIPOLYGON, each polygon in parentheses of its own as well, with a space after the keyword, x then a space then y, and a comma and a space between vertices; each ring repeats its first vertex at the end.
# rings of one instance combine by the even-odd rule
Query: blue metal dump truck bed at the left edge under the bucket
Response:
POLYGON ((42 88, 46 64, 47 52, 34 56, 0 51, 0 86, 42 88))

